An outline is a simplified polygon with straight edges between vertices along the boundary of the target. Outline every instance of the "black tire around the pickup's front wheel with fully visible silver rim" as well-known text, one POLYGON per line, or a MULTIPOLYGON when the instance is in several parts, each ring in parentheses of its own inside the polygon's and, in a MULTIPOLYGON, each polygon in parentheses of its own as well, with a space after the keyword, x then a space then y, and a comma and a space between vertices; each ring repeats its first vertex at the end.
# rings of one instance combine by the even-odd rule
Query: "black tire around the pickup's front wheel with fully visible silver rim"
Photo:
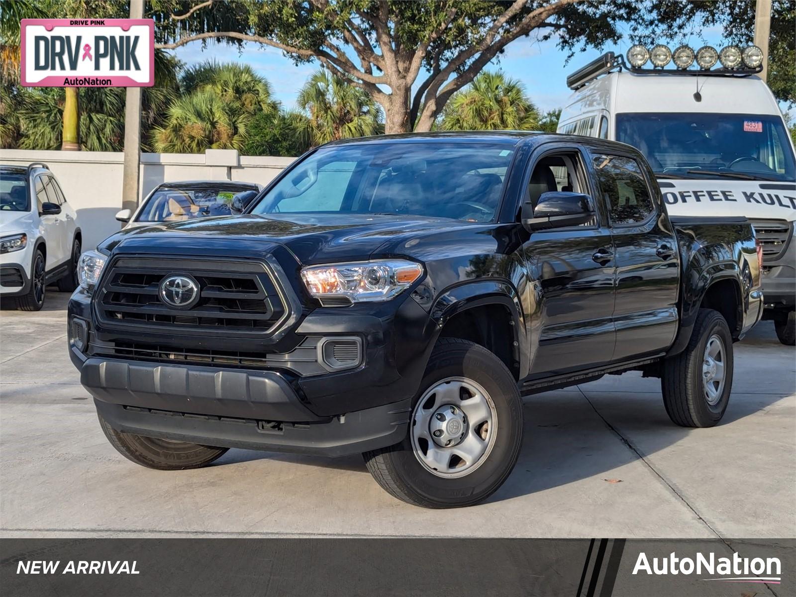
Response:
POLYGON ((431 353, 413 408, 428 388, 449 377, 480 384, 497 413, 494 443, 472 472, 455 478, 431 473, 415 455, 411 429, 401 443, 363 455, 370 474, 388 494, 423 508, 458 508, 486 499, 511 474, 522 444, 520 392, 500 359, 473 342, 441 338, 431 353))

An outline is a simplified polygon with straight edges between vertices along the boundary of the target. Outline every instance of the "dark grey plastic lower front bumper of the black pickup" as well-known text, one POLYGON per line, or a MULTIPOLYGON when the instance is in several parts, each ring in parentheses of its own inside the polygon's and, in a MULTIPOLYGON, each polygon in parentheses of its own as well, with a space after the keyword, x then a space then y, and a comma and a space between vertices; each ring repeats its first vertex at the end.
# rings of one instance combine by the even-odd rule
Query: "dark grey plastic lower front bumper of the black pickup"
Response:
POLYGON ((114 429, 249 450, 345 456, 407 433, 411 399, 334 417, 310 412, 278 373, 89 358, 80 381, 114 429))

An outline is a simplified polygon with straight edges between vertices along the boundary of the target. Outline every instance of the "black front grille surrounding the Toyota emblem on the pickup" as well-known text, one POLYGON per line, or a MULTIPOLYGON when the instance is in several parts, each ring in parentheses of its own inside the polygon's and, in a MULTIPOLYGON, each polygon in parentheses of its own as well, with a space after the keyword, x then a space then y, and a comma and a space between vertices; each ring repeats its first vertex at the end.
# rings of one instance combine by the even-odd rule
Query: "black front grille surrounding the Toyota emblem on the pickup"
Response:
POLYGON ((286 306, 270 271, 258 262, 121 257, 103 275, 98 293, 100 321, 109 326, 146 326, 180 334, 275 331, 286 306), (175 309, 159 296, 168 275, 188 274, 199 283, 199 300, 175 309))

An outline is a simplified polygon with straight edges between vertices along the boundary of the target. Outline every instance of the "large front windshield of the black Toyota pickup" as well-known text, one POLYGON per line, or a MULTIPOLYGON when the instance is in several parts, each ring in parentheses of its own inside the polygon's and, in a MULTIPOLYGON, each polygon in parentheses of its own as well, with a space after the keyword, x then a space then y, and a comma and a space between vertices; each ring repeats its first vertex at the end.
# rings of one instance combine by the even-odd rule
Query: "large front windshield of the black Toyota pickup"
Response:
POLYGON ((386 213, 488 222, 513 146, 369 143, 318 150, 252 213, 386 213))

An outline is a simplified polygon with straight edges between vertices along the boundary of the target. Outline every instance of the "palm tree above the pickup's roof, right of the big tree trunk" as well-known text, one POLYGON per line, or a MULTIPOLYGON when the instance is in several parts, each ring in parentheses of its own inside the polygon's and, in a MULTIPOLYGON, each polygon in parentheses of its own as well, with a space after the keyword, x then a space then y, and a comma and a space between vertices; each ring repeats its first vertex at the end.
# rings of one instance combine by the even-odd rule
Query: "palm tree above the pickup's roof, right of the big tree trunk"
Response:
POLYGON ((484 71, 456 93, 443 112, 443 131, 531 131, 539 113, 525 87, 502 72, 484 71))

